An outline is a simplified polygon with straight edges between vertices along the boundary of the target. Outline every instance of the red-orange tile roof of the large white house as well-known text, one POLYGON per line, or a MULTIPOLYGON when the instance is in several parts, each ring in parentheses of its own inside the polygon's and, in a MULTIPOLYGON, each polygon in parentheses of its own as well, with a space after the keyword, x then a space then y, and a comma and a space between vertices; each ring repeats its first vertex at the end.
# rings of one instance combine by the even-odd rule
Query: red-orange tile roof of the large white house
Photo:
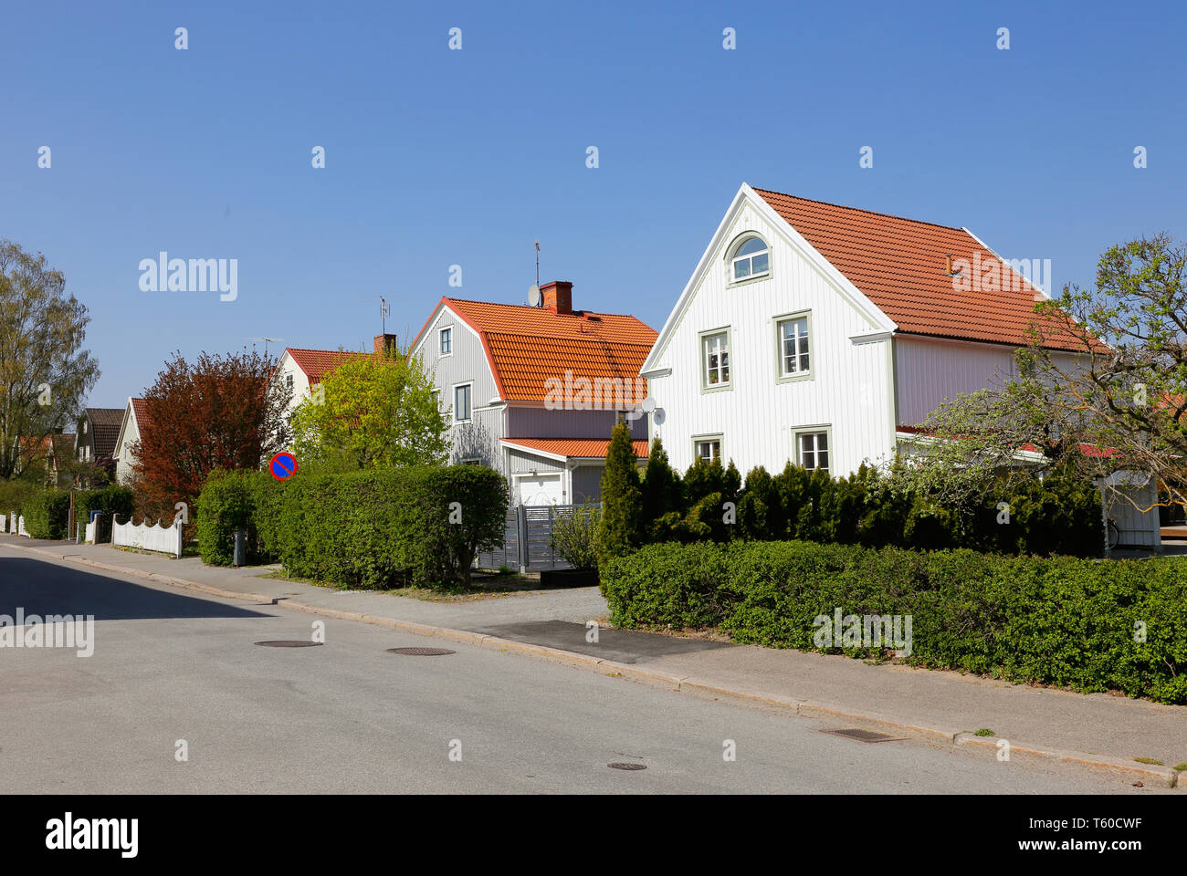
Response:
MULTIPOLYGON (((897 324, 899 330, 965 341, 1026 345, 1035 320, 1035 290, 963 228, 808 201, 767 189, 756 192, 850 283, 897 324), (999 266, 998 291, 957 291, 945 259, 999 266), (1016 278, 1016 280, 1015 280, 1016 278)), ((969 268, 966 268, 969 271, 969 268)), ((978 278, 971 278, 976 286, 978 278)), ((1083 349, 1068 336, 1048 339, 1056 349, 1083 349)))

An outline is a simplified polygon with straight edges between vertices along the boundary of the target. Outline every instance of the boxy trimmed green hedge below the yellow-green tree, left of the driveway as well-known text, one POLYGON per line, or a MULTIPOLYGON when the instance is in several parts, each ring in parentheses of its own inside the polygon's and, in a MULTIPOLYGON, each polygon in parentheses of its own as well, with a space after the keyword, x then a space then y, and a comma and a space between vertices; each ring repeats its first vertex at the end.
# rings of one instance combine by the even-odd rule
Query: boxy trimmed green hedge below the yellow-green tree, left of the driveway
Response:
POLYGON ((481 465, 297 475, 279 512, 293 573, 379 589, 468 584, 480 550, 502 544, 507 481, 481 465))

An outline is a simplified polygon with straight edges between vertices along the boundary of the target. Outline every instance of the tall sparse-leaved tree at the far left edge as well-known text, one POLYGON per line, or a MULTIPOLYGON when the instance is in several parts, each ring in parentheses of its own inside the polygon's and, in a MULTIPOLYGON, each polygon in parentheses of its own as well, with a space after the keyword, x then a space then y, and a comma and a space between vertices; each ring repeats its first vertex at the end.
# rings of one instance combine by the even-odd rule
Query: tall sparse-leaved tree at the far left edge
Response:
POLYGON ((18 446, 42 447, 81 412, 99 380, 82 349, 88 322, 44 255, 0 241, 0 477, 15 471, 18 446))

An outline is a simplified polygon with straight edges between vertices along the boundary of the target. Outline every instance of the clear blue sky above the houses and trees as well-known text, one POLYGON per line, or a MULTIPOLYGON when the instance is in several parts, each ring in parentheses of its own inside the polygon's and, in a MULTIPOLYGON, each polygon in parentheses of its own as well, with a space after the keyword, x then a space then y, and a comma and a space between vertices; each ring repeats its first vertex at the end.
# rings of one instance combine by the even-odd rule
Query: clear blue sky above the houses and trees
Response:
POLYGON ((967 226, 1050 259, 1055 288, 1090 285, 1115 242, 1187 233, 1181 2, 39 2, 4 20, 0 237, 90 309, 95 406, 174 349, 369 347, 380 296, 401 337, 443 294, 521 304, 537 237, 575 306, 659 329, 742 182, 967 226), (237 299, 142 292, 160 250, 237 259, 237 299))

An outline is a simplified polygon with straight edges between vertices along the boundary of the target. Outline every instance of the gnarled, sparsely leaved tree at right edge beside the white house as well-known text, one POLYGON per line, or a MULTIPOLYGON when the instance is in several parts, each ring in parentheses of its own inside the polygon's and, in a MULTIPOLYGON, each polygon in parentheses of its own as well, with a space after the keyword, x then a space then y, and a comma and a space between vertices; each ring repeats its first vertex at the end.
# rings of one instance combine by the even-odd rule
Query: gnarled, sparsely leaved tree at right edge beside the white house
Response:
MULTIPOLYGON (((1035 305, 1017 375, 958 396, 922 424, 932 438, 902 474, 944 504, 965 506, 999 476, 1056 465, 1103 482, 1115 499, 1130 472, 1151 474, 1187 506, 1187 248, 1167 235, 1111 247, 1096 287, 1064 287, 1035 305)), ((1144 508, 1141 508, 1144 510, 1144 508)))

